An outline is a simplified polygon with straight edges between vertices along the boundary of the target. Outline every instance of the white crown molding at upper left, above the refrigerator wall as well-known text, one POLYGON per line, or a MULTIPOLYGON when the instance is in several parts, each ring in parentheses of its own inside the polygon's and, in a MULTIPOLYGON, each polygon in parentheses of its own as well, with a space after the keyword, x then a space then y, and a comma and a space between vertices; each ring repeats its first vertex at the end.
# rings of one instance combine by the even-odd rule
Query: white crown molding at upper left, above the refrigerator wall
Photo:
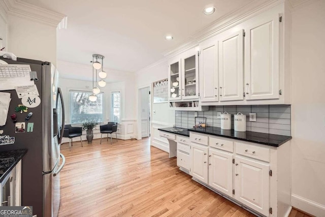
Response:
POLYGON ((0 0, 0 5, 8 15, 32 20, 52 27, 57 27, 64 17, 51 10, 25 3, 22 0, 0 0))

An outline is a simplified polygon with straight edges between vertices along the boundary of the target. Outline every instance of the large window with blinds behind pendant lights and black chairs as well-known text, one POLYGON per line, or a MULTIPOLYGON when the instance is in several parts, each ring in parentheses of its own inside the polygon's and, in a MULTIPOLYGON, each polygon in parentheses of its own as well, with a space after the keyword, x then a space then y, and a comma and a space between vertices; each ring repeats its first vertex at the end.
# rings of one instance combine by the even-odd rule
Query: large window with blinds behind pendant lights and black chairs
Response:
POLYGON ((91 102, 90 91, 70 90, 70 123, 82 123, 85 120, 103 122, 103 93, 96 95, 97 100, 91 102))

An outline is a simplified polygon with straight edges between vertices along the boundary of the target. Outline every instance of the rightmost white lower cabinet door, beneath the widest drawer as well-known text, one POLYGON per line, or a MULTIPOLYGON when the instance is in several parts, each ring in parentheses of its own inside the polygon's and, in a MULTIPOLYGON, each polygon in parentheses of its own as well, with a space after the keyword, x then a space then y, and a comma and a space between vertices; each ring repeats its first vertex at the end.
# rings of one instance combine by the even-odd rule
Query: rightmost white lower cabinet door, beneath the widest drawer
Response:
POLYGON ((235 158, 235 199, 269 216, 269 164, 244 157, 235 158))

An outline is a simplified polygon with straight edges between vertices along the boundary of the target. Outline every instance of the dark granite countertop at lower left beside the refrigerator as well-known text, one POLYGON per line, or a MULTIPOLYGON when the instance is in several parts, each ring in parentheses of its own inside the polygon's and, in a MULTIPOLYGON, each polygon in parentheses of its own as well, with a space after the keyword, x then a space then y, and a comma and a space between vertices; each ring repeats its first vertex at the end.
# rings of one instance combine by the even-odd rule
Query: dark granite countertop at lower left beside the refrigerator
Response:
POLYGON ((0 152, 0 182, 6 178, 26 152, 27 149, 0 152))

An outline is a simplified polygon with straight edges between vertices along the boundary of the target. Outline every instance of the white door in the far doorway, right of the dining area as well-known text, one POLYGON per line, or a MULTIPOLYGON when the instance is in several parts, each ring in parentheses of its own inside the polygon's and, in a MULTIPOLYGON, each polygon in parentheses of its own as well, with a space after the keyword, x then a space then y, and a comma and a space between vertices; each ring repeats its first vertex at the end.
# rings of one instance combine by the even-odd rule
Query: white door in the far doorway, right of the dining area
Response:
POLYGON ((141 138, 150 137, 150 87, 139 89, 141 138))

